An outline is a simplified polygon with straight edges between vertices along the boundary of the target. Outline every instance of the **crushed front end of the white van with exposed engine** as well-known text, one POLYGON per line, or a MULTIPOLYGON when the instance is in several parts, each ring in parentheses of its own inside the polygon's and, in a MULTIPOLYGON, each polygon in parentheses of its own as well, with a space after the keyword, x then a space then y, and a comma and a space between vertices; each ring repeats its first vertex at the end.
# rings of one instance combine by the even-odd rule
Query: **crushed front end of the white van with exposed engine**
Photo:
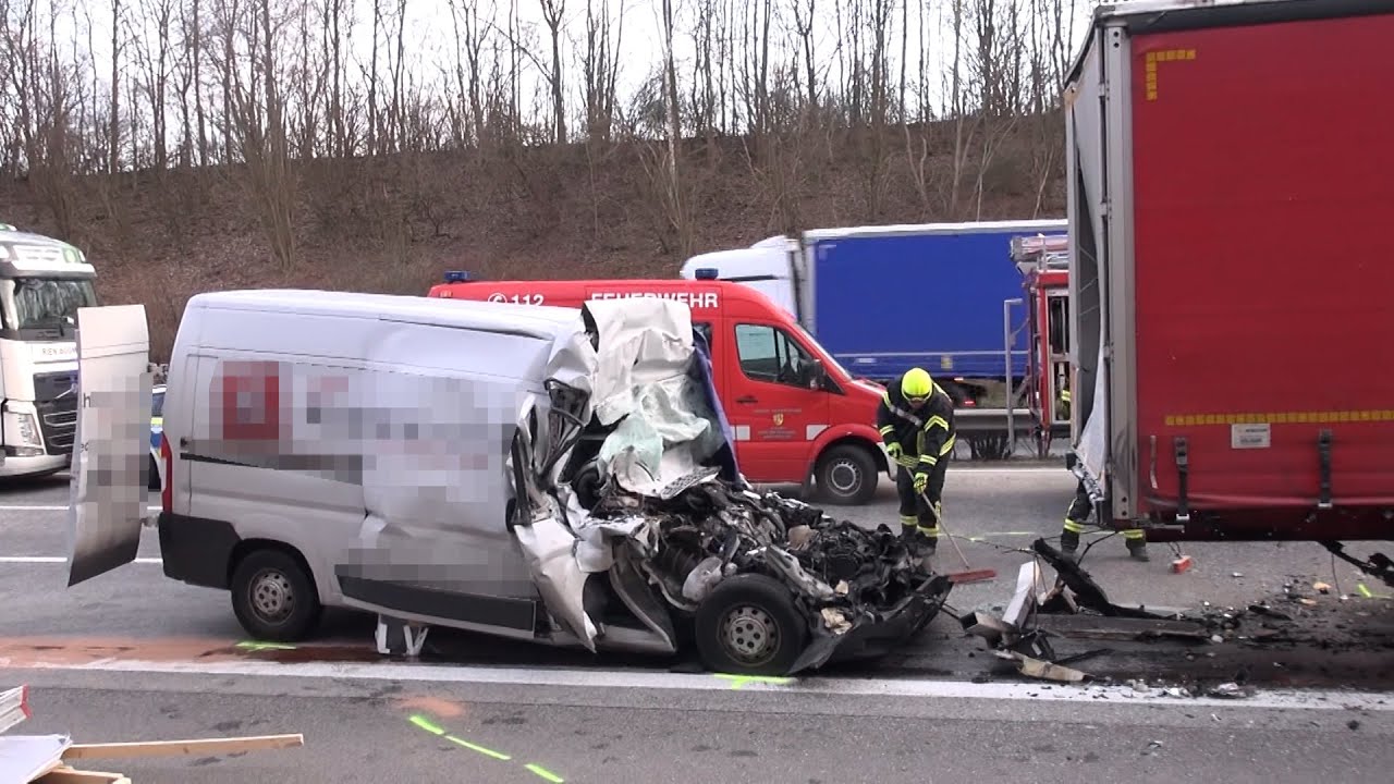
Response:
POLYGON ((510 530, 553 636, 790 674, 919 632, 952 583, 887 526, 866 530, 739 473, 690 311, 590 303, 549 406, 519 421, 510 530))

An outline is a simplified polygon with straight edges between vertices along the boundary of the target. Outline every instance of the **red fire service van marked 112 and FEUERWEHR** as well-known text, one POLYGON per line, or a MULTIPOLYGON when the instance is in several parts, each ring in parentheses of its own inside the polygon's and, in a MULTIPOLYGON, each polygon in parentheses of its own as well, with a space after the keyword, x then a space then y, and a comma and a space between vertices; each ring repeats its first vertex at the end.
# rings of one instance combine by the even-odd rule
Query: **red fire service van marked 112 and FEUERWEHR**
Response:
POLYGON ((736 431, 736 459, 760 484, 817 483, 832 504, 866 504, 889 460, 875 430, 882 388, 853 378, 788 311, 740 283, 715 280, 473 280, 446 272, 431 297, 580 307, 585 300, 664 297, 691 307, 736 431))

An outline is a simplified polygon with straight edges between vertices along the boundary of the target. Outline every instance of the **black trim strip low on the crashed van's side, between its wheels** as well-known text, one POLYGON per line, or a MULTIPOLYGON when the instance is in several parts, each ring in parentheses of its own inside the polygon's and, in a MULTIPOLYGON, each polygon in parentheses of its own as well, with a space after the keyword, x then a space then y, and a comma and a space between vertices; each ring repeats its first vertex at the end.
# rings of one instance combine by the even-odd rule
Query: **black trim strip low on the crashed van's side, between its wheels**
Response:
POLYGON ((335 569, 339 590, 350 598, 414 615, 431 615, 460 624, 537 631, 537 603, 528 598, 478 596, 452 590, 355 578, 335 569))

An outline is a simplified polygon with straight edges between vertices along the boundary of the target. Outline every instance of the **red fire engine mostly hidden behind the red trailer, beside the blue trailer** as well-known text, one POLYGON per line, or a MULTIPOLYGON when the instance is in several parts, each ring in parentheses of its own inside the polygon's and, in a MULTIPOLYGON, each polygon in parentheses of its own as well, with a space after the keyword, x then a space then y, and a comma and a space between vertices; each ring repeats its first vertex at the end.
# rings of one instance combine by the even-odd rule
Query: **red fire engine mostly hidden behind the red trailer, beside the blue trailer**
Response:
POLYGON ((1069 438, 1069 234, 1016 237, 1011 252, 1026 289, 1026 405, 1046 458, 1057 438, 1069 438))

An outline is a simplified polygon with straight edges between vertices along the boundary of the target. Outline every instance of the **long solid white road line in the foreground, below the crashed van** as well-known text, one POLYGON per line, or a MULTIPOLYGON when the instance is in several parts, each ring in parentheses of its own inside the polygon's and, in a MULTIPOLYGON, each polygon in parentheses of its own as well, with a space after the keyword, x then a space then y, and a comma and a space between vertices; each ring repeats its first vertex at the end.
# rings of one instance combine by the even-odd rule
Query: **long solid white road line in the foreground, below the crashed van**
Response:
MULTIPOLYGON (((556 670, 456 664, 395 663, 291 663, 275 661, 139 661, 102 658, 88 664, 33 664, 43 670, 93 670, 105 672, 243 675, 251 678, 350 678, 361 681, 414 681, 475 685, 570 686, 590 689, 687 689, 730 691, 732 679, 714 674, 634 672, 605 670, 556 670)), ((781 679, 783 681, 783 679, 781 679)), ((1347 691, 1264 691, 1243 700, 1214 698, 1143 698, 1128 686, 1043 689, 1040 684, 973 684, 970 681, 789 678, 788 682, 750 679, 742 692, 792 692, 838 696, 999 699, 1022 702, 1089 702, 1108 698, 1111 704, 1149 704, 1225 709, 1370 710, 1394 713, 1388 695, 1347 691)))

